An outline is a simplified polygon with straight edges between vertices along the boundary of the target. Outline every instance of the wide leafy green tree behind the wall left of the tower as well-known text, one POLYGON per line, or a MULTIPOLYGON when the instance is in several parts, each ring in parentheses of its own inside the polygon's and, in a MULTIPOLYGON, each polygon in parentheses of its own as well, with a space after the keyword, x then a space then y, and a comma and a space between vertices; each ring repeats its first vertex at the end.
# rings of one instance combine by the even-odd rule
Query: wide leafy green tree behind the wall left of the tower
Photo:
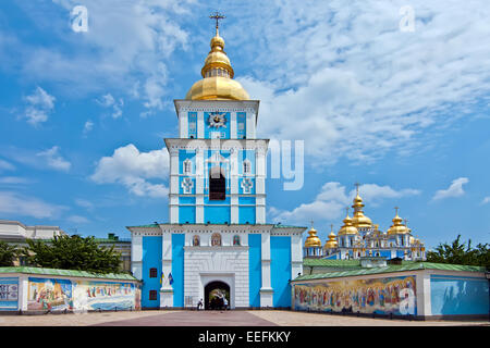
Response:
POLYGON ((95 273, 120 272, 121 253, 99 247, 94 237, 57 236, 49 243, 27 239, 24 254, 29 264, 41 268, 95 273))

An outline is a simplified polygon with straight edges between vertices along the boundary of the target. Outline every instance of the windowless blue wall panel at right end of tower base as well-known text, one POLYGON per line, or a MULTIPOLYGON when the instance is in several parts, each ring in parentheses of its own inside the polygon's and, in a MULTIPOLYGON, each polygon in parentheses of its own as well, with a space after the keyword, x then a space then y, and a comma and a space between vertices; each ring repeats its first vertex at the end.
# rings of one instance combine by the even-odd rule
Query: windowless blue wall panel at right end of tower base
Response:
POLYGON ((291 307, 291 237, 270 237, 270 273, 274 307, 291 307))

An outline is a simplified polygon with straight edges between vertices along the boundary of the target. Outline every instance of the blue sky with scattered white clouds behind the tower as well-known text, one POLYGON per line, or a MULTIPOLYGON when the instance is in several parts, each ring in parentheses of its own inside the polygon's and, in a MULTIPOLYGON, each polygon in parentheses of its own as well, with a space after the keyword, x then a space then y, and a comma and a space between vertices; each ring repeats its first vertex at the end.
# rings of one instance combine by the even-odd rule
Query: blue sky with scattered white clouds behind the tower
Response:
MULTIPOLYGON (((101 2, 101 3, 100 3, 101 2)), ((338 231, 359 182, 431 248, 490 241, 490 10, 485 0, 0 4, 0 219, 130 237, 166 222, 168 153, 223 12, 258 135, 304 140, 302 189, 269 178, 269 222, 338 231), (88 32, 72 28, 84 5, 88 32)))

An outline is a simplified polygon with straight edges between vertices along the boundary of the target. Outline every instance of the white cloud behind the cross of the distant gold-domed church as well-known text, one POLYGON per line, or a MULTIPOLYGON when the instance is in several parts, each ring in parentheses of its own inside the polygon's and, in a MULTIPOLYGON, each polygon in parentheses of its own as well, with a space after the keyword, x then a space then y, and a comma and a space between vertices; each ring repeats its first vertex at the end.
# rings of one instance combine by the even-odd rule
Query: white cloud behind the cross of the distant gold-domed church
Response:
MULTIPOLYGON (((365 202, 377 206, 387 199, 395 199, 419 195, 417 189, 401 189, 394 190, 390 186, 379 186, 377 184, 365 184, 359 187, 360 196, 365 202)), ((292 210, 279 210, 275 208, 269 209, 269 214, 272 220, 305 224, 311 220, 328 221, 341 217, 345 214, 345 208, 352 206, 352 201, 356 195, 353 189, 348 194, 345 186, 340 183, 326 183, 315 200, 309 203, 302 203, 292 210)), ((352 215, 352 212, 351 212, 352 215)))

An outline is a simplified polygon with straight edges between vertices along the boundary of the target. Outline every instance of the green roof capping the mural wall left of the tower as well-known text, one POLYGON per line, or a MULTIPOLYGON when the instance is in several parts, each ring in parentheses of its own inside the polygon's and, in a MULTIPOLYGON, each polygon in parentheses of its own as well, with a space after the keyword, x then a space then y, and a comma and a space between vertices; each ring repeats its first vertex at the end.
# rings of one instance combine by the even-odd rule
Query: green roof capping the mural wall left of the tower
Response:
POLYGON ((28 266, 0 268, 0 273, 27 273, 27 274, 42 274, 42 275, 62 275, 76 276, 84 278, 103 278, 114 281, 137 281, 134 276, 127 273, 91 273, 86 271, 75 270, 59 270, 59 269, 42 269, 28 266))

